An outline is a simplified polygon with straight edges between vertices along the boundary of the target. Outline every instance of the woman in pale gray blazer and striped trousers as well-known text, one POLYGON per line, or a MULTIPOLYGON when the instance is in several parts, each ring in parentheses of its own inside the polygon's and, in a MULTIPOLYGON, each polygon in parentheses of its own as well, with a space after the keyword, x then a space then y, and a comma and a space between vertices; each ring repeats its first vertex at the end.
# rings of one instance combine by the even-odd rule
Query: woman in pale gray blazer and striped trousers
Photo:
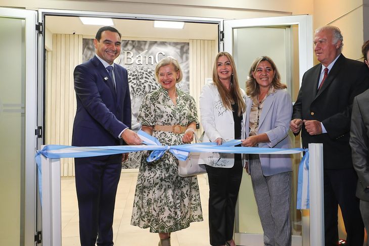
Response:
MULTIPOLYGON (((242 145, 289 149, 291 96, 269 57, 259 57, 253 62, 246 88, 246 139, 242 145)), ((249 155, 246 168, 264 230, 264 245, 291 245, 291 156, 249 155)))

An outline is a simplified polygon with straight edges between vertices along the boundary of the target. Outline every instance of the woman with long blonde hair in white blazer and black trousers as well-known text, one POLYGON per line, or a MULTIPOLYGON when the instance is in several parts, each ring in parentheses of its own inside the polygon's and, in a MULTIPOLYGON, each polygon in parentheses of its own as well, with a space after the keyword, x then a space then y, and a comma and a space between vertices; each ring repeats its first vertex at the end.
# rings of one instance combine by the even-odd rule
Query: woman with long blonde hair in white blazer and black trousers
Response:
MULTIPOLYGON (((228 53, 214 61, 213 83, 203 87, 200 96, 204 141, 221 144, 244 138, 245 92, 239 87, 235 62, 228 53)), ((209 234, 212 246, 236 246, 233 239, 235 208, 242 178, 241 154, 209 158, 209 234)))

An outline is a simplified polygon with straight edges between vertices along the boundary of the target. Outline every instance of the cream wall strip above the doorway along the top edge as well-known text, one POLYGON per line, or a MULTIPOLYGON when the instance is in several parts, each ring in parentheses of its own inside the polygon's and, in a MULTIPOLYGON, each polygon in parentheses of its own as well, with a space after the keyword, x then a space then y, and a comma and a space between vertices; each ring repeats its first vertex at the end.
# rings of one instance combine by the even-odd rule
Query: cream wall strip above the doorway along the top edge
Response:
POLYGON ((1 0, 0 5, 27 9, 61 9, 136 13, 170 16, 216 17, 240 19, 281 15, 312 14, 312 0, 156 0, 156 1, 58 1, 58 0, 1 0), (105 3, 104 3, 105 2, 105 3))

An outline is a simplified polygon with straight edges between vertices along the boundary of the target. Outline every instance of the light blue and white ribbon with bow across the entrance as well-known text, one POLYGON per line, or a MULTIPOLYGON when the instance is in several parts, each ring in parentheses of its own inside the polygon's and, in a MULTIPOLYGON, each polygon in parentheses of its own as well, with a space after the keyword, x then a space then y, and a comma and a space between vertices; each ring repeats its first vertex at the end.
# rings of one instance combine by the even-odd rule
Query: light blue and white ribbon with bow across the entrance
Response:
MULTIPOLYGON (((295 148, 295 149, 273 149, 273 148, 259 148, 259 147, 235 147, 241 143, 241 140, 230 140, 224 142, 222 145, 217 145, 215 142, 203 142, 203 143, 191 143, 181 145, 162 145, 159 140, 150 134, 140 130, 137 132, 145 145, 119 145, 119 146, 88 146, 88 147, 76 147, 67 145, 46 145, 42 150, 37 151, 35 159, 37 163, 38 172, 38 185, 40 196, 41 193, 41 155, 49 159, 59 158, 80 158, 80 157, 95 157, 123 154, 137 151, 152 151, 147 158, 148 162, 152 162, 160 159, 166 151, 172 153, 178 160, 184 161, 187 159, 190 152, 218 152, 228 154, 298 154, 306 152, 305 156, 301 160, 299 167, 299 182, 300 182, 300 170, 303 167, 307 167, 308 170, 308 150, 295 148)), ((308 177, 301 174, 301 178, 308 179, 308 177)), ((299 186, 300 188, 300 186, 299 186)), ((308 187, 307 187, 308 188, 308 187)), ((299 193, 299 191, 298 191, 299 193)), ((301 195, 306 195, 306 192, 301 192, 301 195)), ((308 195, 308 192, 307 192, 308 195)), ((42 197, 41 197, 42 198, 42 197)), ((301 196, 300 196, 301 198, 301 196)), ((299 198, 298 198, 299 199, 299 198)), ((307 196, 308 199, 308 196, 307 196)), ((302 199, 300 199, 302 200, 302 199)), ((305 201, 302 200, 302 201, 305 201)), ((307 207, 308 208, 308 202, 307 207)))

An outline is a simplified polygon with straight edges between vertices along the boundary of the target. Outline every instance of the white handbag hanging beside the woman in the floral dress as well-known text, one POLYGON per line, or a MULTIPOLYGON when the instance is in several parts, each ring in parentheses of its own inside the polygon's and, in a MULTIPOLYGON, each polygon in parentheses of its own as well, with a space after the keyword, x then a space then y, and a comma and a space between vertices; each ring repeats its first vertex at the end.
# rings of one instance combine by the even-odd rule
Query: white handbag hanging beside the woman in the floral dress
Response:
MULTIPOLYGON (((200 142, 196 133, 194 133, 195 142, 200 142)), ((186 161, 178 160, 178 175, 181 177, 190 177, 206 173, 205 164, 199 164, 200 153, 190 152, 186 161)))

